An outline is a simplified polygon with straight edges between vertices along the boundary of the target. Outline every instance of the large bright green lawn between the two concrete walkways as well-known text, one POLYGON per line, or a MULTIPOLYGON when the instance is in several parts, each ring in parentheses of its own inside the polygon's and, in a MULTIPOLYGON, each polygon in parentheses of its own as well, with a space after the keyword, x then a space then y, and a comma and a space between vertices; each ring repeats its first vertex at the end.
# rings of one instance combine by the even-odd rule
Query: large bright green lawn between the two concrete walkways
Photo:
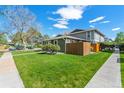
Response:
POLYGON ((14 60, 25 87, 82 88, 110 55, 32 54, 14 56, 14 60))

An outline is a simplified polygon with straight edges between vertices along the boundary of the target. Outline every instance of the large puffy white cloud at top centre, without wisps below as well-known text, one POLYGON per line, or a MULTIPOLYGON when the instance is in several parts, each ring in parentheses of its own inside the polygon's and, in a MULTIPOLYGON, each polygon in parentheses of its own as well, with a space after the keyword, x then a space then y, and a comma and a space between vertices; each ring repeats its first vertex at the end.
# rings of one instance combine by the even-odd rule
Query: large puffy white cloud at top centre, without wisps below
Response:
POLYGON ((78 20, 82 18, 86 6, 66 6, 58 9, 54 14, 59 14, 63 19, 78 20))

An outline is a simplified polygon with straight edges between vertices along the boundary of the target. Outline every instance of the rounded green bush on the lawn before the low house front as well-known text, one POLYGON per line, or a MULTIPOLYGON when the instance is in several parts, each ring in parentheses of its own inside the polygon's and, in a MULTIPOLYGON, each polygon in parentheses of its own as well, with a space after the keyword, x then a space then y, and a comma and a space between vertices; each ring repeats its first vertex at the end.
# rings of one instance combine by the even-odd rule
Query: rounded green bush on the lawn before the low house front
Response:
POLYGON ((42 46, 42 50, 50 54, 56 54, 60 50, 60 47, 59 45, 46 44, 42 46))

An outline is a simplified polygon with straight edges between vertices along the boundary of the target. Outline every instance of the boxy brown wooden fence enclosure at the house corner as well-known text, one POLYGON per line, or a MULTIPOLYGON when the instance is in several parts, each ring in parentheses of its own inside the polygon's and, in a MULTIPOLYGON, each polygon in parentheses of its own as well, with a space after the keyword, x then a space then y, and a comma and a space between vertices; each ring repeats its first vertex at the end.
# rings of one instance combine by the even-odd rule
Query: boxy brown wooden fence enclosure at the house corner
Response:
POLYGON ((66 53, 76 55, 88 55, 90 53, 90 43, 89 42, 67 43, 66 53))

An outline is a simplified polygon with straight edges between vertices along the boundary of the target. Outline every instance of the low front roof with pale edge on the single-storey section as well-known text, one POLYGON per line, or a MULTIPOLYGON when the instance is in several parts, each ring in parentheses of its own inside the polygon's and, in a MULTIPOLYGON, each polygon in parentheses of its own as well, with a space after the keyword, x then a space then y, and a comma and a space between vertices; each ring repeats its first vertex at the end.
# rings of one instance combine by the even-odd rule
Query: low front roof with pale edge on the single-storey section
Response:
POLYGON ((77 38, 77 37, 73 37, 73 36, 59 36, 59 37, 54 37, 51 39, 46 39, 44 41, 49 41, 49 40, 56 40, 56 39, 74 39, 74 40, 81 40, 81 41, 87 41, 85 39, 81 39, 81 38, 77 38))

